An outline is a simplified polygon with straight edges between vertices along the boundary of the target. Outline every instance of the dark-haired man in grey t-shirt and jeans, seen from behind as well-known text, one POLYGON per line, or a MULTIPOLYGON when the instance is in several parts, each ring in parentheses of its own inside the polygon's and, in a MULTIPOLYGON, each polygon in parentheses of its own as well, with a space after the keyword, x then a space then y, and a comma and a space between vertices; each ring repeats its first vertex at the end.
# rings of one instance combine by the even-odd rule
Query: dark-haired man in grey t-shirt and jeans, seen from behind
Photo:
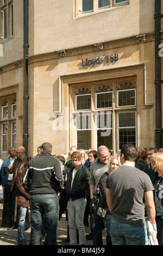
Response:
POLYGON ((122 166, 109 174, 106 181, 106 202, 111 212, 111 239, 113 245, 147 245, 145 221, 154 224, 155 206, 153 185, 149 176, 135 168, 137 150, 126 144, 121 149, 122 166))

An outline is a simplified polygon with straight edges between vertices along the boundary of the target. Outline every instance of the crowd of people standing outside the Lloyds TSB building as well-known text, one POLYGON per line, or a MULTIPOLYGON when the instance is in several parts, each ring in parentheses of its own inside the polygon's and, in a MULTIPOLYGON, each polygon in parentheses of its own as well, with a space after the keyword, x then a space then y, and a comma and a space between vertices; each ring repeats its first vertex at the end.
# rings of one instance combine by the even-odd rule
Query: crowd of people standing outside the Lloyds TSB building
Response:
POLYGON ((163 148, 125 144, 120 155, 105 146, 97 151, 72 146, 67 159, 52 155, 45 142, 37 155, 26 156, 24 147, 10 148, 1 161, 3 187, 2 227, 17 228, 18 245, 27 245, 24 231, 31 227, 30 245, 57 245, 57 229, 66 211, 70 245, 163 245, 163 148), (91 200, 100 191, 106 215, 96 218, 91 200), (30 220, 29 220, 30 209, 30 220), (90 234, 85 235, 85 225, 90 234), (149 226, 156 230, 155 237, 149 226))

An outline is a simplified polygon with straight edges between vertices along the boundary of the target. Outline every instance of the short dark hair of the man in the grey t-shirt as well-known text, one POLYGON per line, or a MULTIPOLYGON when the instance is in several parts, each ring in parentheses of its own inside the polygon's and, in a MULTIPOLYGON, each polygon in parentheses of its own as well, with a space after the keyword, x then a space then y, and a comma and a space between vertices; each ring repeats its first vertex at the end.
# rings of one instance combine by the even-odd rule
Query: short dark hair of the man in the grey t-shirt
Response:
POLYGON ((121 148, 121 156, 124 155, 124 161, 135 161, 137 157, 137 149, 133 144, 125 144, 121 148))

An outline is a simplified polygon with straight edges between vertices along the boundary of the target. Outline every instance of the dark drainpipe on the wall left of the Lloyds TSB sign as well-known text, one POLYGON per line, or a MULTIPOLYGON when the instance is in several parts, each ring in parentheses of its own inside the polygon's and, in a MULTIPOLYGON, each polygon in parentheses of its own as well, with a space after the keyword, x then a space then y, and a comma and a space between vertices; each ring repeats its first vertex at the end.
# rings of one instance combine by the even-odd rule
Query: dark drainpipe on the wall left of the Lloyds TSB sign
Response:
POLYGON ((24 70, 23 70, 23 147, 28 156, 28 0, 23 0, 23 23, 24 23, 24 70))

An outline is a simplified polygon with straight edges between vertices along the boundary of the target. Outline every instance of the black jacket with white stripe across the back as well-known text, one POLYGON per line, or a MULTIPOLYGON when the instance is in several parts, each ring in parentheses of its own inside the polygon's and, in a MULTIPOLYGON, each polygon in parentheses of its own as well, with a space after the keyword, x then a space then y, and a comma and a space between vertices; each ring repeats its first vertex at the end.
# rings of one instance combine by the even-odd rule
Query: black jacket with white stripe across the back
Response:
POLYGON ((29 194, 57 194, 63 189, 61 164, 46 151, 34 157, 27 164, 24 182, 27 178, 29 194))

